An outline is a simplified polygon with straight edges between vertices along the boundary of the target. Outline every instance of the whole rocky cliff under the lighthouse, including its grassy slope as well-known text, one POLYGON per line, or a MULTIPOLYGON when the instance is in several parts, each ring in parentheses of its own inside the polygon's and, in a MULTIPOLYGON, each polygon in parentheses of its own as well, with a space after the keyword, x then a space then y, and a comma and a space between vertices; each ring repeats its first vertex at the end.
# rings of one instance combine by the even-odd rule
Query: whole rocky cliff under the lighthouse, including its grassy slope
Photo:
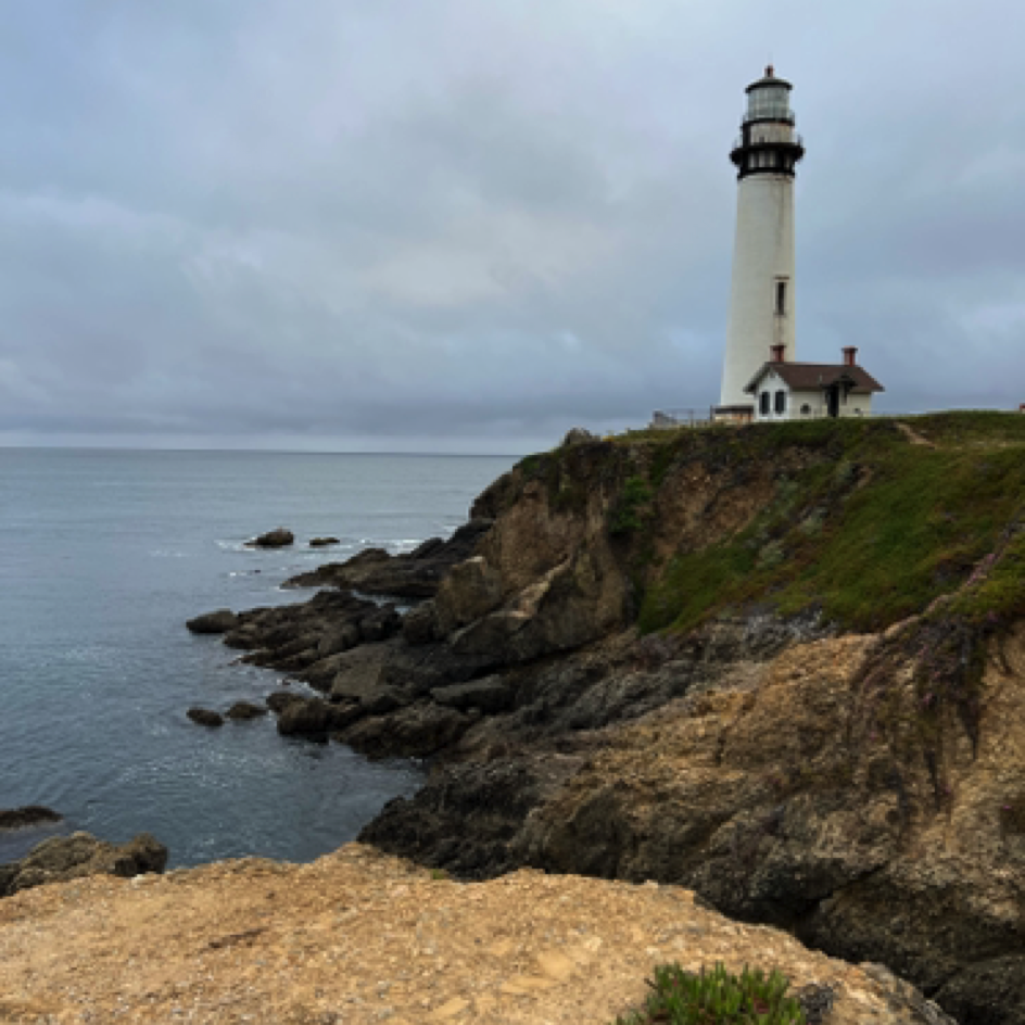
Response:
POLYGON ((1013 1025, 1023 495, 1013 416, 584 441, 490 488, 401 618, 326 593, 228 641, 321 692, 282 732, 434 759, 367 841, 682 884, 1013 1025))

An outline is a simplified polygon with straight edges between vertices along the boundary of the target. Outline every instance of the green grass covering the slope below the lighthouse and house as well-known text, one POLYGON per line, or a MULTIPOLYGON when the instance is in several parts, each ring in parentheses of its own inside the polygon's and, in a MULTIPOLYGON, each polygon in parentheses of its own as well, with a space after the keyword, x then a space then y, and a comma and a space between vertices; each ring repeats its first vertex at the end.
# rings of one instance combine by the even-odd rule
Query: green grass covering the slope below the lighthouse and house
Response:
MULTIPOLYGON (((916 418, 914 429, 935 438, 936 448, 911 445, 888 421, 767 425, 673 439, 653 458, 662 480, 687 458, 752 465, 787 450, 810 458, 777 484, 747 529, 678 553, 648 582, 641 629, 688 630, 755 599, 784 615, 818 607, 852 630, 878 630, 924 610, 964 583, 1025 511, 1020 419, 916 418)), ((1009 545, 995 571, 959 599, 965 615, 1025 611, 1025 540, 1009 545)))

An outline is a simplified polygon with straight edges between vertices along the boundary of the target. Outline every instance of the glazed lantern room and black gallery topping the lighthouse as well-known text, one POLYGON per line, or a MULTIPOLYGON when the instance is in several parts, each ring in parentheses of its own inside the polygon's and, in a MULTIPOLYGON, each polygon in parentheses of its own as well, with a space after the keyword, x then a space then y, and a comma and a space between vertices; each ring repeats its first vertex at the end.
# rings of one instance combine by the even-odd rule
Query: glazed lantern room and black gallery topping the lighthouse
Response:
POLYGON ((741 122, 741 137, 730 153, 738 178, 751 175, 794 177, 797 162, 805 155, 805 147, 794 130, 793 88, 788 81, 776 78, 770 64, 764 77, 752 81, 745 90, 747 113, 741 122))

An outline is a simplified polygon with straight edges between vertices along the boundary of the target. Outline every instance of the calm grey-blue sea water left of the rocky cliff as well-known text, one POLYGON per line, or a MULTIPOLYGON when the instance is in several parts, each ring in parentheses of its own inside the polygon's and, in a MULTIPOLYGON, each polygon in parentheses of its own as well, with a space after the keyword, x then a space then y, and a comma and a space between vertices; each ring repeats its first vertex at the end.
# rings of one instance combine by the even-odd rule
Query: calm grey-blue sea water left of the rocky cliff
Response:
MULTIPOLYGON (((149 831, 170 864, 309 860, 420 779, 342 745, 279 737, 273 717, 210 731, 191 705, 260 699, 279 674, 193 637, 201 611, 302 600, 279 584, 464 522, 511 458, 0 450, 0 808, 48 805, 62 832, 149 831), (242 542, 278 524, 298 542, 242 542)), ((0 862, 39 831, 0 835, 0 862)))

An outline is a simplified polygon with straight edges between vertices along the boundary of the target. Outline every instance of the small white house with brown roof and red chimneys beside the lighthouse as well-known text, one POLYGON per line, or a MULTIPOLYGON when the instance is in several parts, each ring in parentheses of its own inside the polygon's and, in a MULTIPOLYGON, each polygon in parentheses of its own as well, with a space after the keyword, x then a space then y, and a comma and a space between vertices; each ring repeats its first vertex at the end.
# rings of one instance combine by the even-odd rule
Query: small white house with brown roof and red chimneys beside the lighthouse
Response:
POLYGON ((858 366, 857 355, 849 345, 843 363, 788 363, 783 346, 772 346, 769 360, 744 389, 754 398, 756 422, 869 416, 873 393, 884 389, 858 366))

